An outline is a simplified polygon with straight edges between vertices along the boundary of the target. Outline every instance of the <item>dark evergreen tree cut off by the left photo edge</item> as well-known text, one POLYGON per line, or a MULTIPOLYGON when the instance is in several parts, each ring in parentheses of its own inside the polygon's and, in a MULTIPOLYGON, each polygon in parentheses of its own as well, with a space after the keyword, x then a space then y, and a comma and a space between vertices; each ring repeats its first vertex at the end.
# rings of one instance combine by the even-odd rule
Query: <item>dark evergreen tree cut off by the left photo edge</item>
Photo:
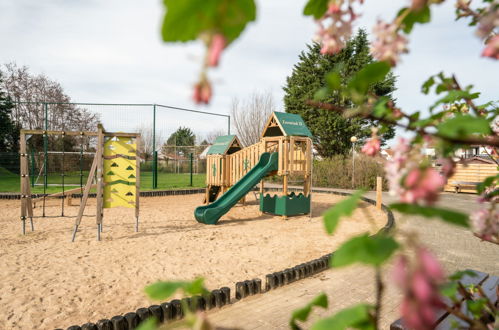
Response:
POLYGON ((2 90, 0 72, 0 152, 19 151, 19 126, 11 119, 13 104, 2 90))

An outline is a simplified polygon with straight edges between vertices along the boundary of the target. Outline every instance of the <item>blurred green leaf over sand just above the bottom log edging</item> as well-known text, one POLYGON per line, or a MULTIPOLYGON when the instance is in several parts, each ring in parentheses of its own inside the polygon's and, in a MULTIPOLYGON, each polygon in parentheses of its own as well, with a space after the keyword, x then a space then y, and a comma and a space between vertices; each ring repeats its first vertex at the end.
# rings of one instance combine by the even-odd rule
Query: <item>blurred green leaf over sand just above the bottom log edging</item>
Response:
POLYGON ((203 294, 207 290, 204 288, 204 279, 197 278, 192 282, 185 281, 158 281, 148 285, 144 291, 151 299, 163 300, 172 296, 177 290, 182 290, 184 294, 203 294))

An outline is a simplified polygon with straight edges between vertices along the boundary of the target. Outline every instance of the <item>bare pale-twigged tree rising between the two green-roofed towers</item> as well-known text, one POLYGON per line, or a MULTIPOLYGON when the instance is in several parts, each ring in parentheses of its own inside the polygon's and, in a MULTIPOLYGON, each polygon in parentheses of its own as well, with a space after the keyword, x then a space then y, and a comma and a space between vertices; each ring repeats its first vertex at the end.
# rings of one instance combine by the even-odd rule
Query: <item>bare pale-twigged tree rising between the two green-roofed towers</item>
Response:
POLYGON ((230 114, 237 136, 243 146, 260 141, 263 127, 275 111, 275 103, 270 92, 254 92, 246 100, 232 99, 230 114))

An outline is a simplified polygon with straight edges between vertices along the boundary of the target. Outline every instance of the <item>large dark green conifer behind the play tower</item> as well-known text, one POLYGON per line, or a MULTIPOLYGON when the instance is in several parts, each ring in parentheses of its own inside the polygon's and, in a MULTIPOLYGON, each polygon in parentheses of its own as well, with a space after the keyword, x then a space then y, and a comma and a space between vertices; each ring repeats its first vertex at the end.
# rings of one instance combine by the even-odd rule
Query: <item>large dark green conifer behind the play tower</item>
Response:
MULTIPOLYGON (((371 63, 373 58, 369 54, 369 43, 364 30, 359 30, 336 55, 322 55, 320 50, 321 46, 314 43, 307 45, 307 51, 299 55, 299 62, 286 79, 284 105, 286 112, 302 116, 314 135, 318 153, 323 157, 331 157, 335 154, 347 154, 352 148, 352 136, 356 136, 362 143, 371 135, 370 128, 377 123, 361 118, 346 118, 335 111, 317 109, 307 102, 313 100, 316 91, 326 85, 326 73, 337 70, 341 83, 346 84, 358 71, 371 63)), ((395 90, 394 84, 395 77, 389 74, 384 81, 370 86, 370 91, 377 96, 390 96, 395 90)), ((353 106, 349 98, 335 92, 321 96, 322 102, 341 107, 353 106)), ((382 142, 392 138, 394 134, 393 127, 390 127, 381 135, 382 142)))

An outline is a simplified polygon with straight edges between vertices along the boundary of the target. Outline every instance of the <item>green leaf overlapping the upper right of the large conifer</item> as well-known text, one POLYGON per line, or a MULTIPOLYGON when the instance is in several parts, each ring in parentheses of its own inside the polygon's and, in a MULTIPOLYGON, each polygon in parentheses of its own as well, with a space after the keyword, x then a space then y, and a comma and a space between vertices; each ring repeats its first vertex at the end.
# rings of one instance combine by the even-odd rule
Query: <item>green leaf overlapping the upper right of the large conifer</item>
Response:
POLYGON ((385 79, 388 72, 390 72, 388 62, 373 62, 362 68, 347 85, 352 99, 357 103, 362 102, 369 86, 385 79))

